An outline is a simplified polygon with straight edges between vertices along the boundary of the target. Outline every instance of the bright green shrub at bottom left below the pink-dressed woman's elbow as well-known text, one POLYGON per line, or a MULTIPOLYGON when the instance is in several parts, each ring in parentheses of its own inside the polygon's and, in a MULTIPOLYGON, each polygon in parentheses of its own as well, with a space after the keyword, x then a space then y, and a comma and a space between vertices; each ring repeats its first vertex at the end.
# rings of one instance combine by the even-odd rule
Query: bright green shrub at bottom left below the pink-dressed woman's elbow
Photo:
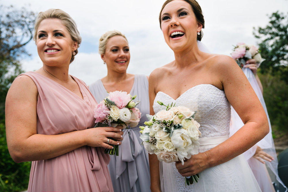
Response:
POLYGON ((15 163, 6 142, 5 124, 0 123, 0 191, 24 191, 28 187, 31 162, 15 163))

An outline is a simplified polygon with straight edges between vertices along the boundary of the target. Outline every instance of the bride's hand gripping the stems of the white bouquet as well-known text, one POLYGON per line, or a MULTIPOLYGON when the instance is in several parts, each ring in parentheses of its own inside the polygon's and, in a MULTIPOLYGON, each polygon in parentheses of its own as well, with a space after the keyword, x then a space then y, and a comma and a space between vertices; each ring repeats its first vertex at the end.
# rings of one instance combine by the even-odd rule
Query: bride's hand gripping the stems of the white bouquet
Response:
POLYGON ((185 159, 184 165, 181 161, 177 161, 175 165, 182 176, 192 176, 209 168, 207 162, 209 161, 206 153, 198 153, 192 155, 190 159, 185 159))

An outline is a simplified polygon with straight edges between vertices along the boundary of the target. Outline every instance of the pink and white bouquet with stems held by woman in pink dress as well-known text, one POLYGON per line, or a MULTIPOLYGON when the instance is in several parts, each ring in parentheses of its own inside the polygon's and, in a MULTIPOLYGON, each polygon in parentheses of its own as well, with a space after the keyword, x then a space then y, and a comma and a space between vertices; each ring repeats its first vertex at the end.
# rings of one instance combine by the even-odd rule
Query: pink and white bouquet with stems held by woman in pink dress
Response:
MULTIPOLYGON (((96 105, 94 109, 95 127, 116 127, 122 125, 136 127, 141 118, 141 112, 136 105, 140 101, 134 102, 136 95, 133 97, 127 92, 114 91, 109 96, 96 105)), ((110 138, 111 139, 111 138, 110 138)), ((105 153, 118 156, 118 145, 113 149, 105 149, 105 153)))

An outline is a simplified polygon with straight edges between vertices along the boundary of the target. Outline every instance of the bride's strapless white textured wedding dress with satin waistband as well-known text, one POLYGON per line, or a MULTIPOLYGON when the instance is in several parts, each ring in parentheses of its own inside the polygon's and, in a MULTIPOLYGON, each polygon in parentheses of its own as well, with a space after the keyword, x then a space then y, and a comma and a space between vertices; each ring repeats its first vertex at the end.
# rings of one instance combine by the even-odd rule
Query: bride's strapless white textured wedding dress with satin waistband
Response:
MULTIPOLYGON (((210 84, 201 84, 190 88, 174 100, 169 95, 158 92, 153 109, 157 113, 164 104, 176 103, 175 106, 185 106, 197 111, 195 120, 200 123, 199 152, 207 151, 229 136, 230 103, 224 91, 210 84)), ((200 173, 198 183, 185 186, 185 178, 175 167, 175 163, 160 162, 160 180, 163 192, 171 191, 261 191, 246 159, 239 155, 226 163, 209 168, 200 173)))

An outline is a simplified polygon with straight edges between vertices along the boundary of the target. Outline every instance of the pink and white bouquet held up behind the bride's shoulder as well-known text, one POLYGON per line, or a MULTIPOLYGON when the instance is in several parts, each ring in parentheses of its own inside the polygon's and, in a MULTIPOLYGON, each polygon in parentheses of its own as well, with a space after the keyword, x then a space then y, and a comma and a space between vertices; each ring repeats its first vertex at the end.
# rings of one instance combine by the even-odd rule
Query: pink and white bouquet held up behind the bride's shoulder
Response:
POLYGON ((254 45, 248 45, 245 43, 237 43, 234 47, 231 57, 237 62, 240 67, 243 67, 246 64, 246 61, 249 59, 255 59, 258 66, 263 62, 263 59, 259 53, 259 48, 254 45))

